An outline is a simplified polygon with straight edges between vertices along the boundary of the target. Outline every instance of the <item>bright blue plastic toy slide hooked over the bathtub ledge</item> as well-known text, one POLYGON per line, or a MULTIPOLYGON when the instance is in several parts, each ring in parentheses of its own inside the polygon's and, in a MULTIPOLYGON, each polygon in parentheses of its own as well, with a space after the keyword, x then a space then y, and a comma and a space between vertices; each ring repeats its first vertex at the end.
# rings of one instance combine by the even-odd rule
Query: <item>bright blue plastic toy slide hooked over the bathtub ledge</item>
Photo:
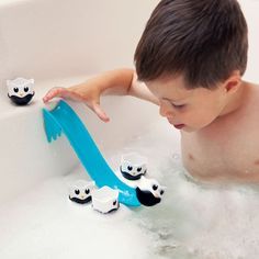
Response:
POLYGON ((103 158, 86 125, 64 100, 59 101, 52 111, 43 109, 43 117, 47 140, 49 143, 56 140, 64 133, 97 187, 108 185, 119 190, 119 201, 125 205, 140 205, 136 189, 117 178, 103 158))

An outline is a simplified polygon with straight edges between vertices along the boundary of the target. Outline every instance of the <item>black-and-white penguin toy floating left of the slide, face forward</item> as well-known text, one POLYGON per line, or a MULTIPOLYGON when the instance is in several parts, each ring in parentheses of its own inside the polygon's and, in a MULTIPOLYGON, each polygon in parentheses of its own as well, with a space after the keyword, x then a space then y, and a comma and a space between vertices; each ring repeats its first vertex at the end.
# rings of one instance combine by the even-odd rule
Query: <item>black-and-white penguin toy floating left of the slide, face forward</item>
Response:
POLYGON ((78 180, 70 185, 69 199, 80 204, 89 203, 92 200, 92 191, 94 189, 94 181, 78 180))

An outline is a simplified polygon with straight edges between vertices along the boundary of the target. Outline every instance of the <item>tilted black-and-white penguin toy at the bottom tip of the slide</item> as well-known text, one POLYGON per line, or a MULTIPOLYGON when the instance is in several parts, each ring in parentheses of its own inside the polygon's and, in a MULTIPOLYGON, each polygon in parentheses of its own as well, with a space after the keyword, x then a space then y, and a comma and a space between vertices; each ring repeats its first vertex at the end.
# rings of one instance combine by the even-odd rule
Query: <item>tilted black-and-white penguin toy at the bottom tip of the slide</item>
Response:
POLYGON ((136 194, 143 205, 154 206, 161 201, 165 190, 166 187, 160 185, 157 180, 142 177, 136 188, 136 194))

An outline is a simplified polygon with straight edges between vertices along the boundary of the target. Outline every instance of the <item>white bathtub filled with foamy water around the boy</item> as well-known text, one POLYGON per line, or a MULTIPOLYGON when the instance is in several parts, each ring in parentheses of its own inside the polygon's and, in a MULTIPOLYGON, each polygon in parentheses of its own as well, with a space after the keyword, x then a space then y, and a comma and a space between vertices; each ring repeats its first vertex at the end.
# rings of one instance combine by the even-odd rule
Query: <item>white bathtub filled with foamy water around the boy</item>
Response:
MULTIPOLYGON (((89 177, 65 136, 47 143, 42 97, 54 86, 132 67, 134 48, 157 3, 1 1, 0 258, 258 258, 258 188, 189 179, 179 132, 158 115, 157 106, 130 97, 102 99, 111 117, 106 124, 83 104, 69 104, 114 170, 124 153, 147 157, 148 174, 167 185, 162 202, 154 207, 121 205, 102 215, 68 199, 70 183, 89 177), (7 98, 5 80, 15 77, 35 79, 36 94, 27 106, 7 98)), ((245 78, 259 81, 259 1, 240 3, 250 32, 245 78)))

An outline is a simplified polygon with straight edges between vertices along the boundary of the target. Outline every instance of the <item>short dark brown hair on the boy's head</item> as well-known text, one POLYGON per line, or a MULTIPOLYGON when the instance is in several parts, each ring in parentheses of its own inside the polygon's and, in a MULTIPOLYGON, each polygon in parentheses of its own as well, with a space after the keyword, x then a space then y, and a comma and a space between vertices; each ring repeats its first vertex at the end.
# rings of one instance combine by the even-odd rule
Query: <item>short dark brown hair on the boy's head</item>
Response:
POLYGON ((161 0, 135 52, 138 79, 182 74, 188 88, 214 88, 247 66, 247 24, 236 0, 161 0))

